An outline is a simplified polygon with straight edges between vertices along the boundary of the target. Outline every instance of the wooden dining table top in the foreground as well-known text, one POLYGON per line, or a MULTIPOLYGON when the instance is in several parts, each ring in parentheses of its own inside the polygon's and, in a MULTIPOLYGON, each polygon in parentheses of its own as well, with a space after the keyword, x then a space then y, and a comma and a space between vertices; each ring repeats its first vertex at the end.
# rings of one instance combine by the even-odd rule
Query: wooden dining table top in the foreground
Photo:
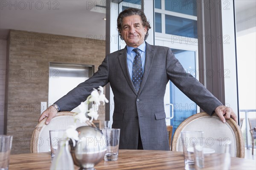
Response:
MULTIPOLYGON (((219 169, 211 166, 211 158, 205 159, 208 169, 219 169)), ((10 157, 9 170, 49 170, 50 153, 14 154, 10 157)), ((75 166, 75 170, 79 167, 75 166)), ((184 169, 182 152, 163 150, 119 150, 117 161, 102 159, 95 166, 96 170, 176 170, 184 169)), ((230 170, 255 170, 256 161, 231 157, 230 170)))

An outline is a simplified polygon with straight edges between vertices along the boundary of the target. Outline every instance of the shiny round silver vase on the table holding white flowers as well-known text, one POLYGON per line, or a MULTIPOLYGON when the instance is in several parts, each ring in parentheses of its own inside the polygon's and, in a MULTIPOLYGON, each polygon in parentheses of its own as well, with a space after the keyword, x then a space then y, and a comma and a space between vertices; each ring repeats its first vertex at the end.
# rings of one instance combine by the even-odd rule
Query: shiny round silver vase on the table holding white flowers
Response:
POLYGON ((80 170, 95 170, 94 166, 102 161, 107 150, 103 134, 90 126, 78 127, 76 130, 79 133, 79 141, 76 141, 75 147, 70 141, 74 164, 79 166, 80 170))

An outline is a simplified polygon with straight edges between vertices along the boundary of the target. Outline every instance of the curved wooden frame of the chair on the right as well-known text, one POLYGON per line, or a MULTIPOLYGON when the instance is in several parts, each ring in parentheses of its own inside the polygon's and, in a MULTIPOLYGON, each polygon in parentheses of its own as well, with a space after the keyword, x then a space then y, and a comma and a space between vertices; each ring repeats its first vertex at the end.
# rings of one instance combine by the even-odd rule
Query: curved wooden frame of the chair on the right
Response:
MULTIPOLYGON (((183 121, 175 130, 175 133, 173 135, 173 138, 178 138, 178 136, 180 135, 181 131, 183 130, 183 128, 191 121, 197 119, 197 118, 201 118, 201 117, 206 117, 210 115, 208 115, 206 112, 200 112, 197 113, 195 115, 190 116, 189 118, 187 118, 185 121, 183 121)), ((215 113, 212 115, 215 117, 218 117, 218 115, 216 115, 215 113)), ((241 129, 239 127, 239 125, 236 123, 236 121, 234 121, 232 118, 230 119, 226 119, 226 124, 229 124, 230 127, 232 128, 232 130, 235 132, 236 135, 236 157, 238 158, 244 158, 244 140, 243 140, 243 135, 241 133, 241 129)), ((176 142, 172 141, 172 151, 176 151, 176 142)))

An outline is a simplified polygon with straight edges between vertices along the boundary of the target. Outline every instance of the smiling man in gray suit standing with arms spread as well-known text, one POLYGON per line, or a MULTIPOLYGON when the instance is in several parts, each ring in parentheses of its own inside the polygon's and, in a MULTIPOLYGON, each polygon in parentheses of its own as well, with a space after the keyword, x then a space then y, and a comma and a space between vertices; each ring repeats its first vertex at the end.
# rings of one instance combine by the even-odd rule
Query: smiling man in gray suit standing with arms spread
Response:
POLYGON ((110 83, 114 94, 113 128, 120 128, 120 149, 169 150, 163 97, 172 81, 205 112, 221 121, 236 114, 223 106, 200 82, 186 73, 172 50, 145 42, 151 28, 145 14, 134 8, 121 12, 117 28, 126 47, 106 55, 99 70, 49 107, 39 118, 70 111, 85 101, 93 88, 110 83))

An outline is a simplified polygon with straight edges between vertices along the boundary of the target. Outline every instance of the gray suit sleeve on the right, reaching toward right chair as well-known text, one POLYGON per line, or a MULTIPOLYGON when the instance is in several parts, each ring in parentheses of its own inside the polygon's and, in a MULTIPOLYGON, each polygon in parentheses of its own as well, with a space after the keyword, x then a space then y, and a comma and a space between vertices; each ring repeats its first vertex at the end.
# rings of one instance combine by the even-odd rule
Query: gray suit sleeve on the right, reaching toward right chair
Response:
POLYGON ((203 84, 184 70, 171 49, 167 51, 166 73, 169 80, 172 81, 180 91, 209 115, 212 114, 216 107, 223 105, 203 84))

